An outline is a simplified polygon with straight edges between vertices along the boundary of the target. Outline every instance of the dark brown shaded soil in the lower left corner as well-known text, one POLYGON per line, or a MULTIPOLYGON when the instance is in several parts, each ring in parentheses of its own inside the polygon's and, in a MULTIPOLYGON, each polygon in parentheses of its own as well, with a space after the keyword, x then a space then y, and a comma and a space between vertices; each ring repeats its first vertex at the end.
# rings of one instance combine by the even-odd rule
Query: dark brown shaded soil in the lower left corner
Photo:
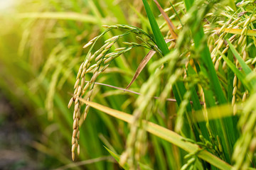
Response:
POLYGON ((0 169, 40 169, 20 115, 0 91, 0 169))

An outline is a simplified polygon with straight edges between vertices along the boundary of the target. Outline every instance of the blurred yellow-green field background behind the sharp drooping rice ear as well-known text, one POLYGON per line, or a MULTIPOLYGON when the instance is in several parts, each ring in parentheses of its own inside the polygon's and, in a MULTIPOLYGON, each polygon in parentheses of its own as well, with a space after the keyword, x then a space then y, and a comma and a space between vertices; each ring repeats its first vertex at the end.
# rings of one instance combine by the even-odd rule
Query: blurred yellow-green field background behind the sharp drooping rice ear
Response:
MULTIPOLYGON (((0 0, 0 169, 119 169, 103 145, 121 154, 127 124, 91 109, 72 162, 73 108, 67 107, 87 54, 82 46, 105 30, 102 25, 117 23, 150 30, 139 0, 0 0)), ((97 82, 125 88, 147 51, 127 52, 97 82)), ((131 89, 139 91, 147 75, 143 71, 131 89)), ((97 85, 92 101, 132 113, 135 98, 97 85)))

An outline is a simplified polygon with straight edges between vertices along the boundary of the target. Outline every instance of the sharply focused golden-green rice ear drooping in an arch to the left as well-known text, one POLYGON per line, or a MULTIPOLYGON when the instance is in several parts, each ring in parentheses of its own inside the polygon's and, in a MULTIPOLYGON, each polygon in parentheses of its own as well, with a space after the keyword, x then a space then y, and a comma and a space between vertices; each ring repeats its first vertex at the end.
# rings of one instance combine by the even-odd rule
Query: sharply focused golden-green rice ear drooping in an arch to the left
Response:
MULTIPOLYGON (((80 108, 81 108, 81 103, 78 101, 78 98, 82 98, 85 96, 87 98, 87 101, 90 101, 90 98, 92 96, 92 93, 94 91, 94 85, 97 80, 97 77, 99 77, 100 73, 104 72, 107 67, 109 67, 110 63, 112 60, 115 58, 119 57, 120 55, 124 54, 124 52, 128 52, 129 50, 132 50, 133 47, 147 47, 151 49, 150 54, 160 52, 159 49, 156 47, 156 44, 154 40, 146 34, 143 30, 133 27, 133 26, 125 26, 125 25, 117 25, 117 26, 104 26, 109 30, 111 29, 123 29, 123 30, 128 30, 128 32, 122 34, 122 35, 116 35, 108 40, 105 41, 105 45, 102 45, 100 49, 98 49, 96 52, 92 54, 92 47, 95 44, 95 42, 101 38, 105 33, 102 33, 102 35, 97 36, 96 38, 93 38, 89 42, 87 42, 85 47, 89 47, 92 45, 90 48, 89 52, 87 53, 87 56, 85 57, 85 62, 82 62, 80 65, 80 68, 78 69, 78 74, 76 77, 76 81, 74 84, 74 96, 73 96, 73 101, 75 101, 75 106, 74 106, 74 113, 73 113, 73 138, 72 138, 72 144, 73 148, 72 151, 74 151, 75 147, 78 149, 78 154, 80 153, 80 145, 79 143, 79 138, 80 138, 80 131, 79 131, 79 122, 80 122, 80 108), (115 45, 115 42, 119 40, 119 38, 122 38, 124 35, 128 35, 130 33, 135 33, 137 38, 142 42, 142 44, 138 44, 137 42, 124 42, 124 45, 128 45, 128 47, 117 47, 115 52, 110 52, 110 48, 115 45), (86 81, 85 77, 87 73, 92 73, 92 77, 90 81, 86 81), (85 84, 85 82, 87 82, 85 84), (78 148, 79 147, 79 148, 78 148)), ((151 57, 151 56, 150 56, 151 57)), ((149 57, 149 58, 150 58, 149 57)), ((70 100, 70 103, 68 103, 68 107, 71 106, 73 103, 72 100, 70 100)), ((89 112, 90 106, 85 106, 85 111, 83 118, 87 117, 87 114, 89 112)), ((75 159, 75 152, 72 152, 72 157, 75 159)))

